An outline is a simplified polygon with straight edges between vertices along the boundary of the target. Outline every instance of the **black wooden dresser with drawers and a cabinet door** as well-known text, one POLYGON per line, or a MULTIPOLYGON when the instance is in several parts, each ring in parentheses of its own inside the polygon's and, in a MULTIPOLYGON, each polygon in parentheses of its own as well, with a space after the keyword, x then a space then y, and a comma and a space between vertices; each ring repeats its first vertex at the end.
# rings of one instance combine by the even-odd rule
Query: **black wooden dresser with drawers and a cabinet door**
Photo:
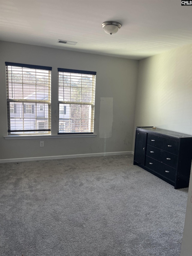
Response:
POLYGON ((189 186, 192 135, 153 127, 137 127, 134 165, 177 188, 189 186))

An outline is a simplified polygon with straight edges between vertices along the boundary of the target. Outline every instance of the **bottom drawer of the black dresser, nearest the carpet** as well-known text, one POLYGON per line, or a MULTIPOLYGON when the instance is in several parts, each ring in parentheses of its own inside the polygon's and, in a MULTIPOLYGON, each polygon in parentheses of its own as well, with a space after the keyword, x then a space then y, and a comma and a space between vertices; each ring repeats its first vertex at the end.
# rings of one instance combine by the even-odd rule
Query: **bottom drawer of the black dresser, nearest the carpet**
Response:
POLYGON ((175 182, 176 169, 146 156, 146 167, 175 182))

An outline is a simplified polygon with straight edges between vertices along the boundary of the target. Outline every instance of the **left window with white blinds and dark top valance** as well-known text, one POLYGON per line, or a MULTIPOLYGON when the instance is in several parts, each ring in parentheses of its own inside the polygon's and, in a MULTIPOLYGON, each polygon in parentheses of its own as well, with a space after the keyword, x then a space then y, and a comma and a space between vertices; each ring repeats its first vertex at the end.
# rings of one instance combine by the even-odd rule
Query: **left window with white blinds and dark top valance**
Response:
POLYGON ((50 134, 51 67, 5 62, 8 134, 50 134), (39 110, 43 111, 38 115, 39 110))

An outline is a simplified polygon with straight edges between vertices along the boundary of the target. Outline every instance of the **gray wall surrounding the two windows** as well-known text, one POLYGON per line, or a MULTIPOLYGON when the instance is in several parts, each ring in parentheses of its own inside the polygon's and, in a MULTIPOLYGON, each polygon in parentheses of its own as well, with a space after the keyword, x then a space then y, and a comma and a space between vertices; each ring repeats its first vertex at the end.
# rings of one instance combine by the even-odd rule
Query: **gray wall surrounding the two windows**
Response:
MULTIPOLYGON (((0 159, 132 151, 138 61, 96 54, 1 42, 0 159), (93 138, 5 140, 7 135, 5 62, 52 67, 52 134, 57 134, 57 68, 96 71, 93 138), (112 136, 100 138, 100 99, 113 98, 112 136), (56 114, 54 112, 56 111, 56 114)), ((107 115, 107 113, 106 113, 107 115)), ((106 116, 107 118, 107 116, 106 116)), ((101 119, 102 120, 102 119, 101 119)))

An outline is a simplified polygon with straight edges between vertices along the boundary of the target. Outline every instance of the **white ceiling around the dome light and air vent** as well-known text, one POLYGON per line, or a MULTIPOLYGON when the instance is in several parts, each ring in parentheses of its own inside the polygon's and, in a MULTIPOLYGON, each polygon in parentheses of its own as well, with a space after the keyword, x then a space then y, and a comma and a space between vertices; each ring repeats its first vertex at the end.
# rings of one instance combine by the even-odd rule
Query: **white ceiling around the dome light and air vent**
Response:
POLYGON ((129 59, 192 43, 192 7, 180 0, 0 0, 0 21, 2 41, 129 59), (114 35, 108 20, 122 24, 114 35))

